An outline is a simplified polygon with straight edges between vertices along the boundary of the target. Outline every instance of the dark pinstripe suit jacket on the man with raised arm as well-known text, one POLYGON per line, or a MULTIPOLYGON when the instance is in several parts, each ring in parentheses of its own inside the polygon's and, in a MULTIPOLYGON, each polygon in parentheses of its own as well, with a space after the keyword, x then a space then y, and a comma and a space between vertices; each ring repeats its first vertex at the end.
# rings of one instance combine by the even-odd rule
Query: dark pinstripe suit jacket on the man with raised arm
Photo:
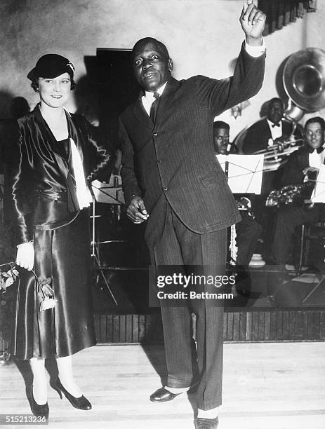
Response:
POLYGON ((170 78, 155 124, 141 95, 121 114, 121 176, 127 203, 133 194, 142 196, 150 222, 159 224, 164 219, 155 208, 164 194, 180 220, 197 233, 218 231, 240 220, 215 158, 213 118, 258 93, 264 64, 265 55, 253 58, 242 47, 234 76, 228 79, 170 78))

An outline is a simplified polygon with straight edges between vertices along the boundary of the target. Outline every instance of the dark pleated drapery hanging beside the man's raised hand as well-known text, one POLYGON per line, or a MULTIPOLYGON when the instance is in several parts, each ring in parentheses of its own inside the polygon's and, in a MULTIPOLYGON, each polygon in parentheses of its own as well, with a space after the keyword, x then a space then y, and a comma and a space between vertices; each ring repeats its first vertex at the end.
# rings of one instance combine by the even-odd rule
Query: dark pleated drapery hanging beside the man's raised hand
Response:
POLYGON ((316 11, 316 0, 259 0, 258 8, 266 13, 263 36, 303 18, 306 12, 316 11))

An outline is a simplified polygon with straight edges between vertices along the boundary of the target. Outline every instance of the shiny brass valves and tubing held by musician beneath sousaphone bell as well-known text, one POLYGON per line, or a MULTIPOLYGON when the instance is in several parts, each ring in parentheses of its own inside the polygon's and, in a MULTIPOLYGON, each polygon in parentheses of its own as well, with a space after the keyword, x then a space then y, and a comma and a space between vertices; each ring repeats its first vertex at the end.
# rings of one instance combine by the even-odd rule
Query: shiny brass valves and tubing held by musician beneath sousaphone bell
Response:
POLYGON ((286 157, 298 150, 303 139, 296 139, 293 135, 276 139, 272 146, 254 152, 254 155, 264 155, 263 171, 275 171, 286 163, 286 157))

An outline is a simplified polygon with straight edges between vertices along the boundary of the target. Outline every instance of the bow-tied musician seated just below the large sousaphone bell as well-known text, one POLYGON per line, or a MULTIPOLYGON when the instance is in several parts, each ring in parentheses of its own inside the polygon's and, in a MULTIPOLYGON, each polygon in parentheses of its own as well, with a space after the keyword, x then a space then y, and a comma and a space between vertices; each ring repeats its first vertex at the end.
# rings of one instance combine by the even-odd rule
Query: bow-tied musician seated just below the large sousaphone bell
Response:
POLYGON ((242 146, 244 154, 254 154, 272 147, 277 139, 288 138, 291 133, 294 138, 300 139, 300 129, 283 116, 284 103, 280 98, 272 98, 267 104, 267 116, 248 128, 242 146))

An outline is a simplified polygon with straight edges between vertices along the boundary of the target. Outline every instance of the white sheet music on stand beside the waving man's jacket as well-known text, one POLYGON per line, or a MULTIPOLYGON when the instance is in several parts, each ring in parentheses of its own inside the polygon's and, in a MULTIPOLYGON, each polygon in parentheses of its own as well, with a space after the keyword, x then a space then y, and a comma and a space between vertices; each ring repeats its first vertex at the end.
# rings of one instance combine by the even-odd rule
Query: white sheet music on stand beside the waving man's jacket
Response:
POLYGON ((262 155, 217 155, 223 171, 228 161, 228 184, 232 193, 260 194, 262 186, 262 155))

